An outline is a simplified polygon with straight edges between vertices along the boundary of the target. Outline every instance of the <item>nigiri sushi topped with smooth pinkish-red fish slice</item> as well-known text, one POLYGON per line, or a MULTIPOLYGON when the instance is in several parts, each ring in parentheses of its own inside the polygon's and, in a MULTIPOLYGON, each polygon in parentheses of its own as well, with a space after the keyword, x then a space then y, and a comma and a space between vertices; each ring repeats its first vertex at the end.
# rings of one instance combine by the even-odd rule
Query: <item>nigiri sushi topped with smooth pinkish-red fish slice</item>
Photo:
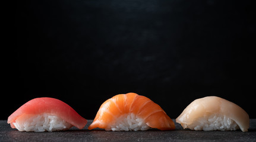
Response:
POLYGON ((10 117, 8 124, 19 131, 60 131, 75 126, 83 128, 87 120, 71 106, 55 98, 35 98, 20 106, 10 117))

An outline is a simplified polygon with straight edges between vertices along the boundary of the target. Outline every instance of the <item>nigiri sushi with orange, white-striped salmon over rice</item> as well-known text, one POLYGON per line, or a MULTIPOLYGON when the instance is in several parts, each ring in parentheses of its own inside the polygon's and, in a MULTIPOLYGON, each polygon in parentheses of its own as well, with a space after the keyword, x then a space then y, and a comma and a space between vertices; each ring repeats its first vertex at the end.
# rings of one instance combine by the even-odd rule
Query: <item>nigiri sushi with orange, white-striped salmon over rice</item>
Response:
POLYGON ((173 130, 175 124, 146 96, 127 93, 113 96, 100 106, 89 130, 97 127, 106 131, 173 130))

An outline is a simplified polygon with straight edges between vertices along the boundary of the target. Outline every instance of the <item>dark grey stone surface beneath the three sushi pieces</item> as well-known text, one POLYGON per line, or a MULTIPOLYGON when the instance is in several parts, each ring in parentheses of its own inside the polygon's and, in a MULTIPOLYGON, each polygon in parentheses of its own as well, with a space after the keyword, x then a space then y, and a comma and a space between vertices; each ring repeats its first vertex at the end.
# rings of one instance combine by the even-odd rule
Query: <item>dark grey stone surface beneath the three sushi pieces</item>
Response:
POLYGON ((160 131, 105 131, 88 130, 89 120, 83 130, 73 127, 68 131, 45 133, 20 132, 12 129, 7 121, 0 121, 0 141, 256 141, 256 119, 251 120, 247 133, 242 131, 192 131, 183 130, 175 123, 176 130, 160 131))

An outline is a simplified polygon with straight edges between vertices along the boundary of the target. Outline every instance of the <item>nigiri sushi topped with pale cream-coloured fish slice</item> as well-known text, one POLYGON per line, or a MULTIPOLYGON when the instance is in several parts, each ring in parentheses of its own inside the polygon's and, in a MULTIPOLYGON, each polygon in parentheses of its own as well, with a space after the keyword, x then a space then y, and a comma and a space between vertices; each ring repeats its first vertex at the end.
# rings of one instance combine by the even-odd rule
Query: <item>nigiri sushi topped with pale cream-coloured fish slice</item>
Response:
POLYGON ((176 122, 191 130, 246 132, 249 115, 240 106, 217 96, 195 99, 184 109, 176 122))

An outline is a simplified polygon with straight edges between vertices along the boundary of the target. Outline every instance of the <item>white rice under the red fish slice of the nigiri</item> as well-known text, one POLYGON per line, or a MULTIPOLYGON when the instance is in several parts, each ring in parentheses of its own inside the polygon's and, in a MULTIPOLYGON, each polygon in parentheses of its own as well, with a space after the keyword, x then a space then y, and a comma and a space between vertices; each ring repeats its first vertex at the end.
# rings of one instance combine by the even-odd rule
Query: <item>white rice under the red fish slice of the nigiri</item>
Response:
POLYGON ((16 120, 13 125, 19 131, 35 132, 68 130, 72 127, 62 118, 47 113, 33 116, 27 115, 26 118, 16 120))

